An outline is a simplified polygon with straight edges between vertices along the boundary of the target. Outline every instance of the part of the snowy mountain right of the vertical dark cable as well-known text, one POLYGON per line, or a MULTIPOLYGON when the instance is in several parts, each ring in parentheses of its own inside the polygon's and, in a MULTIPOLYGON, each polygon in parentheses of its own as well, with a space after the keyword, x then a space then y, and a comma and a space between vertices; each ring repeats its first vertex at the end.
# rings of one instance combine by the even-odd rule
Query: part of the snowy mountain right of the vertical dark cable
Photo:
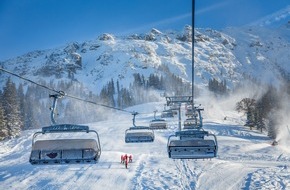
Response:
POLYGON ((289 23, 279 28, 227 28, 222 32, 196 30, 196 75, 237 84, 252 78, 277 85, 290 78, 289 23))

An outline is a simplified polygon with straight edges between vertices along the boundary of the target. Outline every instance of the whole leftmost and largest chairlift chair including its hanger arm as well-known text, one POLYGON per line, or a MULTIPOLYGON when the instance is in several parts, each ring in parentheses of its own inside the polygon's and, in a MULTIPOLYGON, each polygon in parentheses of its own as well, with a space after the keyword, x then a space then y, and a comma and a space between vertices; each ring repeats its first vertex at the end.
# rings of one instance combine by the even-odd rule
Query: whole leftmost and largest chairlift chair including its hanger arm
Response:
POLYGON ((95 130, 90 130, 85 125, 56 124, 54 120, 56 103, 57 99, 63 95, 64 93, 61 92, 60 94, 50 95, 51 98, 54 98, 51 108, 52 125, 43 127, 41 131, 34 133, 29 158, 32 165, 96 163, 100 158, 100 139, 95 130), (56 133, 58 135, 70 134, 67 135, 67 138, 48 138, 57 136, 56 133), (83 134, 81 137, 72 137, 76 133, 83 134), (39 135, 44 138, 38 138, 39 135), (86 136, 90 136, 90 138, 84 138, 86 136))

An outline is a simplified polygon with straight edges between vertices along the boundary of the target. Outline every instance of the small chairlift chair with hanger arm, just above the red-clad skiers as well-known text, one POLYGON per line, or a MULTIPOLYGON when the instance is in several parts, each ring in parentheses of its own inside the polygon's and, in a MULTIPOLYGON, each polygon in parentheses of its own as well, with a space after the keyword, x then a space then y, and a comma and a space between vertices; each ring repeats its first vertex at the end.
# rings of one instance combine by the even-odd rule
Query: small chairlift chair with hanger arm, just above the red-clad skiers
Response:
POLYGON ((133 115, 133 127, 130 127, 125 131, 126 143, 146 143, 154 141, 154 131, 149 127, 136 126, 135 117, 138 113, 134 112, 133 115))

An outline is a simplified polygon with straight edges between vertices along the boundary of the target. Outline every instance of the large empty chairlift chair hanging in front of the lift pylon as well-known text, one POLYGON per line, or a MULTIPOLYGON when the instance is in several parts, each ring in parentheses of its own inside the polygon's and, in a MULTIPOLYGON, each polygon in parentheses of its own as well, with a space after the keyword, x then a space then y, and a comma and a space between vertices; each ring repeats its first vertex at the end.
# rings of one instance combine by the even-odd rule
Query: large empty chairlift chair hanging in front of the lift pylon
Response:
POLYGON ((176 132, 167 142, 168 156, 172 159, 209 159, 217 156, 217 150, 216 136, 201 130, 176 132))

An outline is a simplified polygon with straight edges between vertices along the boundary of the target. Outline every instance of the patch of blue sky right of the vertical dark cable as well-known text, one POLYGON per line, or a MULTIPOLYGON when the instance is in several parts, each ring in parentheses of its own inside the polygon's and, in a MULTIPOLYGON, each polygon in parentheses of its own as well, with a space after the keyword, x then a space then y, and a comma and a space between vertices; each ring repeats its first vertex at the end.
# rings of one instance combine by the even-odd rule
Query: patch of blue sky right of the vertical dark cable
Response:
POLYGON ((222 29, 251 24, 290 5, 290 0, 196 0, 195 26, 222 29))

